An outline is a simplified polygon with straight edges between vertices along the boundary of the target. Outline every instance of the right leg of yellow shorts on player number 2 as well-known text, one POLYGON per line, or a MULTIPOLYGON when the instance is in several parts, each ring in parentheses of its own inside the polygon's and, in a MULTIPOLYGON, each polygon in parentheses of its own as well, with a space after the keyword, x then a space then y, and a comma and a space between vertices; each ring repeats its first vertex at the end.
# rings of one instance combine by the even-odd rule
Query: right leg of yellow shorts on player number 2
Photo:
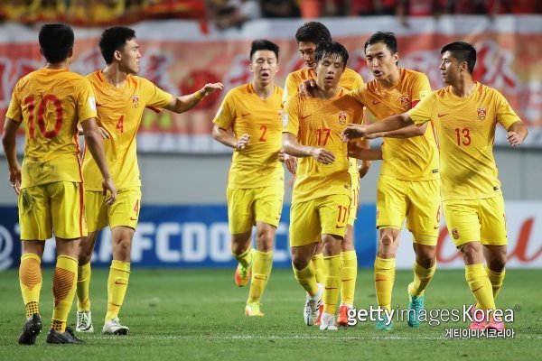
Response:
POLYGON ((277 184, 271 187, 258 188, 254 194, 254 212, 257 222, 264 222, 277 227, 282 214, 285 187, 277 184))

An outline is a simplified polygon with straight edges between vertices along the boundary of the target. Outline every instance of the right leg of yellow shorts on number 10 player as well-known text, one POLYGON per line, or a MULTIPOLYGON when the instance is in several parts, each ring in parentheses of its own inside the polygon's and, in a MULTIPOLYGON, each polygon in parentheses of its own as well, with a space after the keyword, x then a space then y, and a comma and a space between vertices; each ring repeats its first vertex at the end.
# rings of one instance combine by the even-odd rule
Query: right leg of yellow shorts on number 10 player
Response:
POLYGON ((87 236, 83 184, 57 181, 47 184, 47 192, 51 199, 54 235, 66 240, 87 236))

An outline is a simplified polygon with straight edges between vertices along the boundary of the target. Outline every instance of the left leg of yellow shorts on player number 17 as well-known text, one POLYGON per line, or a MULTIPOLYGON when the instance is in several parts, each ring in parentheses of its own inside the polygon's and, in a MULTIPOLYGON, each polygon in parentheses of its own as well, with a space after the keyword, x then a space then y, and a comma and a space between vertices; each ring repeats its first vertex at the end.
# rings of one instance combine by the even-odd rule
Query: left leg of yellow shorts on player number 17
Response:
POLYGON ((315 199, 293 203, 290 208, 290 246, 320 242, 322 227, 315 199))

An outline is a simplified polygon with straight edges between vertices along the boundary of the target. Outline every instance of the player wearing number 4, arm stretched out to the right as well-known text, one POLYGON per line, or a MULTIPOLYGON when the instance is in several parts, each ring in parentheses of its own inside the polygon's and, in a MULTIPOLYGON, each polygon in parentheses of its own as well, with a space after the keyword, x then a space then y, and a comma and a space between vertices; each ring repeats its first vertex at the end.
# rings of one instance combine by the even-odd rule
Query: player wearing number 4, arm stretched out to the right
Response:
POLYGON ((141 180, 137 166, 135 133, 145 107, 164 108, 182 113, 196 106, 203 97, 222 84, 206 84, 192 95, 173 97, 145 78, 137 77, 141 52, 135 32, 126 27, 112 27, 102 33, 99 48, 106 69, 89 74, 96 93, 98 124, 108 139, 105 141, 107 164, 118 188, 113 207, 105 206, 97 177, 97 162, 91 154, 83 156, 86 215, 89 236, 79 248, 78 322, 77 331, 93 332, 90 301, 90 257, 97 232, 107 225, 111 229, 113 261, 107 280, 107 314, 102 333, 126 335, 128 328, 120 324, 118 313, 123 304, 130 274, 130 250, 141 208, 141 180))

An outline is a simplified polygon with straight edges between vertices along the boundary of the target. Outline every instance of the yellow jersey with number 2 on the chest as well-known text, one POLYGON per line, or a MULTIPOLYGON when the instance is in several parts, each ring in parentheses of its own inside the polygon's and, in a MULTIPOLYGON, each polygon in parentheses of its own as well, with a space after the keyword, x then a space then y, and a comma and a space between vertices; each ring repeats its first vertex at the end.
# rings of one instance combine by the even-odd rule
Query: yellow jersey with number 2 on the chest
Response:
POLYGON ((278 161, 282 95, 283 89, 275 86, 273 96, 262 99, 248 83, 229 90, 224 98, 213 123, 226 130, 231 128, 236 138, 250 135, 247 147, 233 152, 228 188, 260 188, 284 182, 285 171, 278 161))

